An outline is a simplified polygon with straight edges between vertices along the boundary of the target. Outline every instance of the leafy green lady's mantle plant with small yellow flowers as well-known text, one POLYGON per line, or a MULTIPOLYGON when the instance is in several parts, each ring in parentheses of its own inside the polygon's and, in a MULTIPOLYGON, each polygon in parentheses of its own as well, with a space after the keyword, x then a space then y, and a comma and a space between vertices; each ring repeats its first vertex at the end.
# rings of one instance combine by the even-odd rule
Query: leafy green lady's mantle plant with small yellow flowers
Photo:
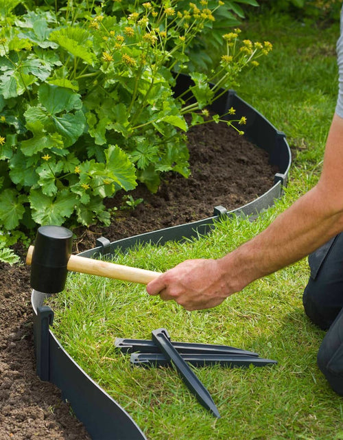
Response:
POLYGON ((120 14, 118 3, 53 12, 0 0, 0 229, 106 224, 103 200, 119 189, 187 177, 185 115, 209 121, 206 106, 271 49, 227 32, 219 65, 191 72, 187 51, 223 1, 123 2, 120 14), (193 79, 193 100, 174 96, 178 73, 193 79))

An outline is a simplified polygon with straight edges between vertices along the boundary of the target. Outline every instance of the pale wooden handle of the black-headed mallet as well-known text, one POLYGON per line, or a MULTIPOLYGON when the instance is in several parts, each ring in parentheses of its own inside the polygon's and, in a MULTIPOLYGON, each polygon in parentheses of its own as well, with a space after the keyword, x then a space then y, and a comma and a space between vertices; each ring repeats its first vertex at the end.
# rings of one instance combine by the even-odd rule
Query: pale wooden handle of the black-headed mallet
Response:
MULTIPOLYGON (((34 246, 29 246, 27 252, 26 263, 32 263, 32 255, 34 246)), ((103 262, 99 259, 91 259, 86 257, 78 257, 71 255, 68 260, 67 270, 80 273, 88 273, 90 275, 97 275, 99 277, 108 277, 114 279, 121 279, 122 281, 132 281, 133 283, 147 284, 153 279, 157 278, 161 273, 152 270, 145 270, 140 268, 133 268, 130 266, 123 266, 121 264, 114 264, 103 262)))

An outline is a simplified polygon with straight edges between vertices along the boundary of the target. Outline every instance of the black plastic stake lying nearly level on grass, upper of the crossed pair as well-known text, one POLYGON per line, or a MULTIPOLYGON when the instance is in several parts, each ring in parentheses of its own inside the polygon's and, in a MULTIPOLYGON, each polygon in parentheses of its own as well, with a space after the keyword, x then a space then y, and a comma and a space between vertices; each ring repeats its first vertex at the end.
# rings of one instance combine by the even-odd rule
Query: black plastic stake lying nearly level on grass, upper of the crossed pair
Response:
MULTIPOLYGON (((229 345, 217 344, 198 344, 183 343, 175 340, 170 341, 179 353, 196 353, 196 354, 246 354, 249 356, 259 356, 253 351, 243 350, 229 345)), ((129 339, 116 338, 115 347, 120 349, 122 353, 161 353, 160 348, 150 339, 129 339)))

